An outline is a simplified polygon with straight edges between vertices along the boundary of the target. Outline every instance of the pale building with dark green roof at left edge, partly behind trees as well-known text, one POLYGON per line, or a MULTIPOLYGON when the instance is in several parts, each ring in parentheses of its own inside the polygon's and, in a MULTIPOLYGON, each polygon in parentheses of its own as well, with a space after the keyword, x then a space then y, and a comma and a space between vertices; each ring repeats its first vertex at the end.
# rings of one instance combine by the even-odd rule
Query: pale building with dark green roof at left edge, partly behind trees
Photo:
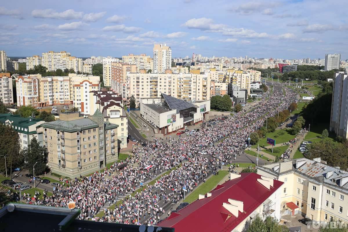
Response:
POLYGON ((10 126, 18 133, 19 144, 21 149, 28 149, 30 141, 36 137, 39 144, 42 146, 42 136, 37 133, 37 126, 45 123, 44 120, 34 119, 32 117, 23 118, 19 114, 0 114, 0 122, 3 125, 10 126))

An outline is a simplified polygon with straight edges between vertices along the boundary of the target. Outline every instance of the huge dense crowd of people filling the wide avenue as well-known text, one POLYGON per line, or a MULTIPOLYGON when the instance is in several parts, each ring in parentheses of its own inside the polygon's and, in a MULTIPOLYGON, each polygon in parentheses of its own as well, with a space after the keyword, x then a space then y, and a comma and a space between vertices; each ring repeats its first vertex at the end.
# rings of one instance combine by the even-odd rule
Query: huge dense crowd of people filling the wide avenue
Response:
MULTIPOLYGON (((254 110, 217 120, 214 126, 203 127, 197 133, 170 138, 167 143, 154 138, 145 147, 133 147, 133 155, 124 161, 127 166, 123 169, 112 165, 109 170, 91 176, 64 180, 64 188, 60 185, 53 195, 44 192, 35 196, 34 204, 66 207, 69 201, 75 201, 81 209, 79 219, 94 217, 93 220, 104 222, 156 224, 159 216, 166 214, 165 208, 183 198, 186 193, 183 188, 187 193, 193 191, 208 175, 217 174, 221 163, 232 163, 243 153, 247 138, 262 127, 266 117, 287 109, 295 94, 288 88, 284 91, 285 94, 281 87, 274 86, 263 94, 254 110), (145 169, 149 166, 151 170, 145 169), (142 184, 156 176, 151 185, 142 184), (137 189, 140 191, 135 192, 137 189), (107 202, 118 203, 113 210, 103 210, 101 217, 95 217, 107 202)), ((26 199, 27 203, 32 202, 30 197, 26 199)))

